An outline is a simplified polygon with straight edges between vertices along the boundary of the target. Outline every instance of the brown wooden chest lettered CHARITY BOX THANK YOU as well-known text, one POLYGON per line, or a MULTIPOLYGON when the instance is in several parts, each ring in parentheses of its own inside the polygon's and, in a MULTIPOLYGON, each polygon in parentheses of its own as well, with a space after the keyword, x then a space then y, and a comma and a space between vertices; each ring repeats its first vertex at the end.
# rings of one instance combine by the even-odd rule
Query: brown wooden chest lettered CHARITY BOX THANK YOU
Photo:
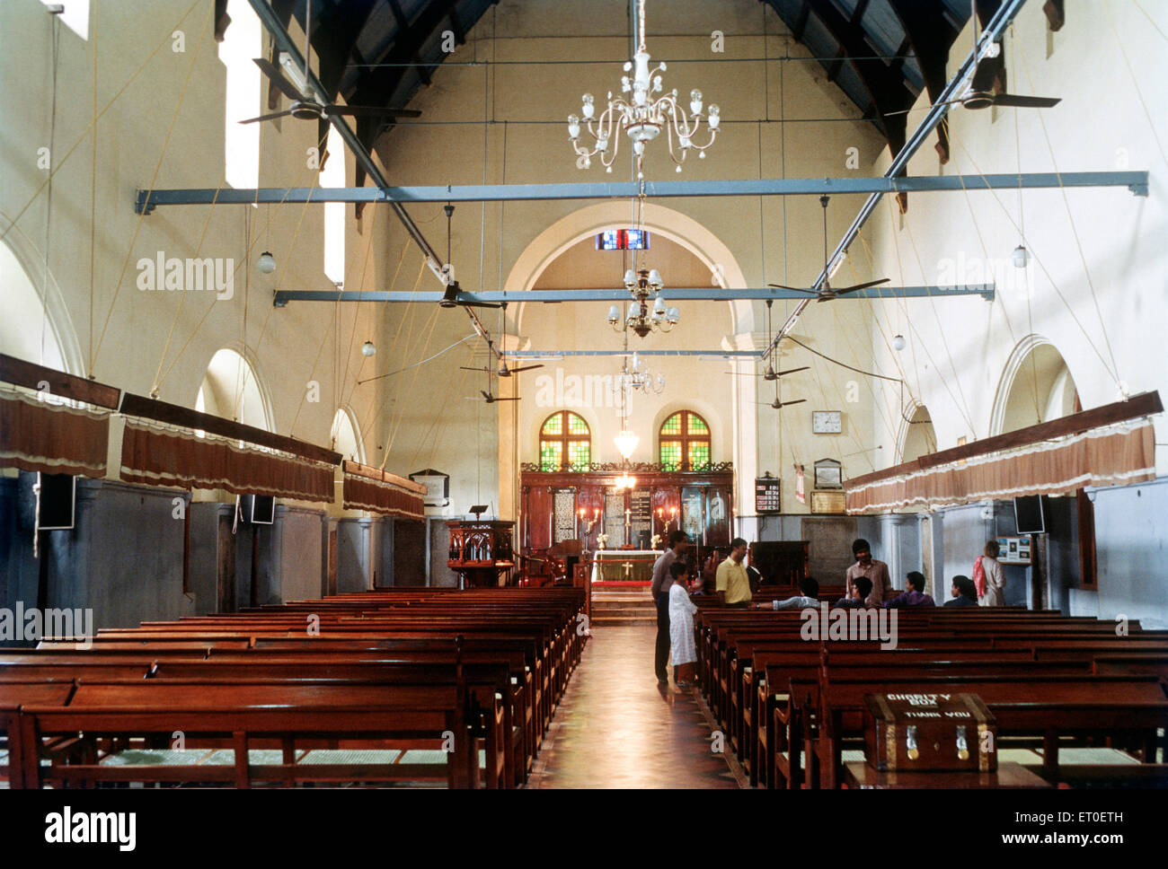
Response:
POLYGON ((997 770, 997 727, 976 694, 868 694, 864 701, 864 755, 877 770, 997 770))

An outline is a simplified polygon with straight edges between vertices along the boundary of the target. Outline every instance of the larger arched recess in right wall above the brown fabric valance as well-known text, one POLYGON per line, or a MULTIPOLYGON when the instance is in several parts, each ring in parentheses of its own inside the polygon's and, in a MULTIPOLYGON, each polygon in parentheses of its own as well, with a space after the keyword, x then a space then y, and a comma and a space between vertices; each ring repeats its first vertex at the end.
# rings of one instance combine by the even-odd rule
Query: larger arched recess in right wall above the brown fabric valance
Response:
POLYGON ((1076 412, 1078 390, 1066 359, 1045 338, 1027 336, 1007 360, 990 432, 1014 432, 1076 412))

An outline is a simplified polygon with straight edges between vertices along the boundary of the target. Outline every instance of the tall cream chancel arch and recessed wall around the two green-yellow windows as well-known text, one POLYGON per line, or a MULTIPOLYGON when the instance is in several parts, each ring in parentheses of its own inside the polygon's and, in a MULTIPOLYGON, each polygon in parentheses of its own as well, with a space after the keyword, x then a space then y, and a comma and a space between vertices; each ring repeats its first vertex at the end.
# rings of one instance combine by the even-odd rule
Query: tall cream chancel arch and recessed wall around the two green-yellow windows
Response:
MULTIPOLYGON (((598 251, 596 236, 612 229, 631 227, 628 205, 606 202, 573 211, 556 220, 530 240, 516 258, 507 275, 503 289, 522 293, 529 289, 570 289, 589 287, 623 287, 625 269, 634 267, 632 255, 621 251, 598 251)), ((667 304, 681 309, 681 321, 669 334, 651 332, 645 338, 630 336, 628 350, 641 351, 641 363, 647 365, 656 381, 665 374, 660 392, 634 392, 627 407, 621 408, 619 390, 613 388, 621 371, 619 351, 623 339, 607 322, 610 302, 579 302, 544 306, 516 303, 508 308, 509 346, 523 350, 605 350, 607 356, 564 355, 544 362, 541 371, 533 372, 522 383, 522 397, 514 414, 499 418, 499 478, 515 481, 500 485, 501 514, 512 514, 519 503, 517 481, 521 456, 537 450, 538 422, 543 414, 559 408, 572 408, 595 420, 592 435, 593 462, 619 460, 613 437, 621 429, 623 409, 627 413, 630 429, 640 437, 631 456, 633 462, 658 460, 658 427, 668 413, 691 404, 695 384, 703 390, 702 415, 714 428, 711 451, 719 460, 735 462, 735 472, 749 479, 755 472, 755 385, 746 378, 725 377, 723 359, 697 356, 655 356, 647 351, 712 350, 729 345, 744 349, 739 338, 756 330, 755 304, 746 300, 735 302, 669 301, 669 287, 721 286, 745 287, 742 272, 730 248, 714 232, 697 220, 673 209, 646 203, 638 227, 651 237, 648 251, 637 253, 635 267, 655 268, 665 282, 662 297, 667 304), (527 336, 538 336, 534 345, 527 336), (510 343, 514 342, 514 343, 510 343), (534 399, 534 400, 533 400, 534 399), (735 420, 734 425, 723 421, 735 420)), ((749 344, 750 338, 746 338, 749 344)), ((503 395, 519 394, 515 378, 500 383, 503 395)))

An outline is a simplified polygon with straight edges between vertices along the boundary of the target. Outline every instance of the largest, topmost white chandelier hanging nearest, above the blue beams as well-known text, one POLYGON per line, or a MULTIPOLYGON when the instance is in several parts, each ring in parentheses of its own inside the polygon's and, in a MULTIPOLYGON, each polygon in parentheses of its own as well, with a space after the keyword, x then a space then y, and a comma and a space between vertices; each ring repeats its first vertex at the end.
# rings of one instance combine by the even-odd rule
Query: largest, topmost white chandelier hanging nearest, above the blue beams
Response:
POLYGON ((689 117, 684 108, 677 106, 677 91, 674 89, 656 99, 652 94, 660 93, 662 89, 661 72, 665 72, 665 63, 660 64, 652 72, 649 71, 649 55, 645 50, 645 0, 639 0, 638 20, 640 40, 637 54, 632 61, 625 62, 625 72, 632 72, 632 77, 620 77, 621 93, 631 93, 631 101, 625 97, 613 98, 609 91, 609 107, 599 117, 596 117, 596 100, 591 93, 583 97, 580 114, 588 125, 588 132, 596 140, 589 147, 579 143, 580 118, 576 114, 568 115, 568 134, 572 140, 572 150, 576 152, 576 167, 588 169, 592 164, 592 157, 600 155, 600 162, 605 171, 612 171, 612 163, 617 159, 617 150, 620 147, 618 133, 625 133, 633 140, 633 153, 637 154, 637 177, 644 178, 641 160, 645 155, 645 143, 658 138, 662 129, 669 141, 669 156, 677 163, 677 171, 686 162, 686 155, 690 150, 696 150, 697 156, 704 159, 705 149, 714 145, 717 136, 721 115, 718 107, 711 105, 707 110, 705 126, 710 131, 710 140, 705 145, 695 145, 694 136, 702 125, 702 92, 694 90, 689 92, 689 117), (596 121, 593 125, 593 120, 596 121), (618 129, 619 127, 619 129, 618 129), (674 149, 674 138, 677 139, 677 148, 674 149), (677 156, 680 152, 681 156, 677 156))

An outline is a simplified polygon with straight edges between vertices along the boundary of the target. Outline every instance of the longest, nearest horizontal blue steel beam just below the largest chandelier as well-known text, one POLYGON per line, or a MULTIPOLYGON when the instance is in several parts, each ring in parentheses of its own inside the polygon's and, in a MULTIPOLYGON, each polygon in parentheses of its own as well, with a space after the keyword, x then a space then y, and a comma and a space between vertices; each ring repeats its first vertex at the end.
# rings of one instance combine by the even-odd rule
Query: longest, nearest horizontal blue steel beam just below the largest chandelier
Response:
POLYGON ((389 202, 520 202, 545 199, 610 199, 645 195, 653 198, 705 196, 822 196, 840 194, 952 192, 966 190, 1018 190, 1065 187, 1126 187, 1138 196, 1148 195, 1147 171, 1040 171, 999 175, 929 175, 877 178, 756 178, 734 181, 642 181, 580 184, 468 184, 465 187, 292 187, 258 190, 139 190, 138 213, 157 205, 207 205, 216 203, 324 203, 389 202))

